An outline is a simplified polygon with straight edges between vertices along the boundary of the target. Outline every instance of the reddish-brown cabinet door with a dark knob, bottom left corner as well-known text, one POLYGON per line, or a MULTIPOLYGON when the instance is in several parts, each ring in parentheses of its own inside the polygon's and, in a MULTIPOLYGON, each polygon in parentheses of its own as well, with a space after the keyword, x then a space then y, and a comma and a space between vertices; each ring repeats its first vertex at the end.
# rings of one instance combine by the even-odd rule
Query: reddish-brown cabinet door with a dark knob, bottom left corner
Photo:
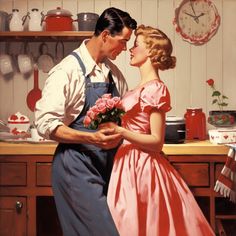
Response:
POLYGON ((27 235, 26 198, 0 197, 0 235, 27 235))

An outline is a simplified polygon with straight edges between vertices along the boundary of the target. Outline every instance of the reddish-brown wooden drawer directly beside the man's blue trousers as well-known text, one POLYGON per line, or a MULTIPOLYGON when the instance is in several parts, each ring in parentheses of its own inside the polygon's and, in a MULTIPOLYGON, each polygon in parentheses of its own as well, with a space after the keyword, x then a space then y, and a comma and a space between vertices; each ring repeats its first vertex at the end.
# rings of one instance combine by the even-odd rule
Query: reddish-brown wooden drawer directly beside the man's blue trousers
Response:
POLYGON ((36 163, 36 185, 51 186, 51 169, 52 163, 36 163))

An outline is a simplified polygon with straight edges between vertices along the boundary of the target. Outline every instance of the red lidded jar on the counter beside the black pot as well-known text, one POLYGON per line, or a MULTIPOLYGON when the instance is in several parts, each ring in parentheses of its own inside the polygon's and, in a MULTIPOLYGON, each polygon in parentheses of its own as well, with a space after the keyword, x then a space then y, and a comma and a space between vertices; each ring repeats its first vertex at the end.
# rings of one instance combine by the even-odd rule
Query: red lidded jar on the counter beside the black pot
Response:
POLYGON ((184 114, 186 139, 206 140, 206 116, 202 108, 187 108, 184 114))

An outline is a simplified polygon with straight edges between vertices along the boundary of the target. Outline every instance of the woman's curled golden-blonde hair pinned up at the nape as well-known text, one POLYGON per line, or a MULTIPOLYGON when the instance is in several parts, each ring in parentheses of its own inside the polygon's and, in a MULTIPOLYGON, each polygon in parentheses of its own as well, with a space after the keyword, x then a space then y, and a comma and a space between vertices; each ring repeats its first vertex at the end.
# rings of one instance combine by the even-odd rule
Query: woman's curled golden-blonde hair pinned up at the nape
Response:
POLYGON ((152 65, 160 70, 174 68, 176 57, 171 56, 173 47, 170 39, 161 30, 151 26, 140 25, 135 30, 135 36, 144 36, 144 42, 150 49, 152 65))

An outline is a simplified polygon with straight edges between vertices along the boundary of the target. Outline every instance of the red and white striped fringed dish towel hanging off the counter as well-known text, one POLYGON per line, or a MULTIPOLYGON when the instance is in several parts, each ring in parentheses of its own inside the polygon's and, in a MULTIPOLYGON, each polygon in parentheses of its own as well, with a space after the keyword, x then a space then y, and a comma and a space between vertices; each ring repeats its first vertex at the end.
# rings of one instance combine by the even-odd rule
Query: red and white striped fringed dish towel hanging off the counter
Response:
POLYGON ((227 146, 230 146, 228 156, 214 190, 236 203, 236 144, 227 146))

